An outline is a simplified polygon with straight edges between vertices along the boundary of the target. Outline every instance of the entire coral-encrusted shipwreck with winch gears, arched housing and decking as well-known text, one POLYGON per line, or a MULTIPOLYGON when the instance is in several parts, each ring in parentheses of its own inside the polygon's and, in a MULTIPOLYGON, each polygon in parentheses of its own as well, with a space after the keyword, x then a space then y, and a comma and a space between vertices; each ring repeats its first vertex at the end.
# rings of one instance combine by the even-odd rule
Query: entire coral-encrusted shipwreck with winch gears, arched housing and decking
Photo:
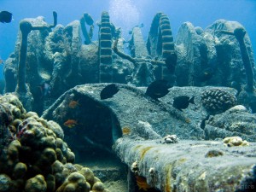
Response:
POLYGON ((240 23, 184 22, 174 39, 157 13, 145 42, 141 26, 122 38, 108 12, 67 26, 53 16, 20 21, 4 66, 0 192, 119 191, 104 185, 111 174, 79 165, 108 156, 129 192, 255 191, 255 61, 240 23), (160 79, 166 96, 147 96, 160 79), (109 84, 119 91, 103 100, 109 84), (179 110, 178 96, 194 103, 179 110))

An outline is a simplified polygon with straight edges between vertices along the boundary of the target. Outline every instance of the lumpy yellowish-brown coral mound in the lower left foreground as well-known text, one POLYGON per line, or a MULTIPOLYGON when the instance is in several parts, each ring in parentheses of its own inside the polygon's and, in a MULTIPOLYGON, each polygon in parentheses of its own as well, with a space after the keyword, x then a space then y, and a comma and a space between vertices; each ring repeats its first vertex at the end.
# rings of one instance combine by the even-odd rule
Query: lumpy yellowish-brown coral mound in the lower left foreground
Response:
POLYGON ((108 192, 89 168, 73 164, 60 125, 26 113, 12 94, 0 96, 0 102, 6 109, 1 119, 8 117, 0 131, 9 132, 8 144, 0 143, 0 192, 108 192))

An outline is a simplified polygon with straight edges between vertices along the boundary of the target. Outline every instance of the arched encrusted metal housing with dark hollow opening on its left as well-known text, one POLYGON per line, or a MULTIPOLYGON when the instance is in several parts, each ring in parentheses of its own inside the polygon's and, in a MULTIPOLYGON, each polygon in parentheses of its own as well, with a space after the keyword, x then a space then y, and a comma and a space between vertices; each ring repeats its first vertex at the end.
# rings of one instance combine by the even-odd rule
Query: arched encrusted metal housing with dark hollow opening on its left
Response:
MULTIPOLYGON (((89 151, 98 149, 108 153, 112 144, 126 134, 142 139, 166 137, 169 134, 181 139, 205 138, 209 113, 201 102, 201 96, 212 87, 173 87, 169 94, 160 98, 161 102, 154 102, 144 95, 145 89, 118 84, 119 92, 116 95, 106 101, 100 100, 100 92, 106 85, 79 85, 68 90, 44 112, 45 119, 53 119, 62 126, 69 136, 67 143, 73 148, 77 148, 79 143, 89 143, 89 151), (173 99, 177 96, 195 96, 195 105, 190 104, 181 112, 172 107, 173 99), (73 101, 79 101, 79 106, 70 108, 69 103, 73 101), (72 130, 64 125, 68 119, 76 120, 72 130)), ((218 89, 236 96, 234 89, 218 89)), ((247 119, 253 120, 253 115, 247 113, 247 119)), ((250 124, 247 121, 245 125, 250 124)), ((253 138, 253 134, 249 133, 249 137, 253 138)), ((87 149, 77 148, 78 151, 87 149)))

